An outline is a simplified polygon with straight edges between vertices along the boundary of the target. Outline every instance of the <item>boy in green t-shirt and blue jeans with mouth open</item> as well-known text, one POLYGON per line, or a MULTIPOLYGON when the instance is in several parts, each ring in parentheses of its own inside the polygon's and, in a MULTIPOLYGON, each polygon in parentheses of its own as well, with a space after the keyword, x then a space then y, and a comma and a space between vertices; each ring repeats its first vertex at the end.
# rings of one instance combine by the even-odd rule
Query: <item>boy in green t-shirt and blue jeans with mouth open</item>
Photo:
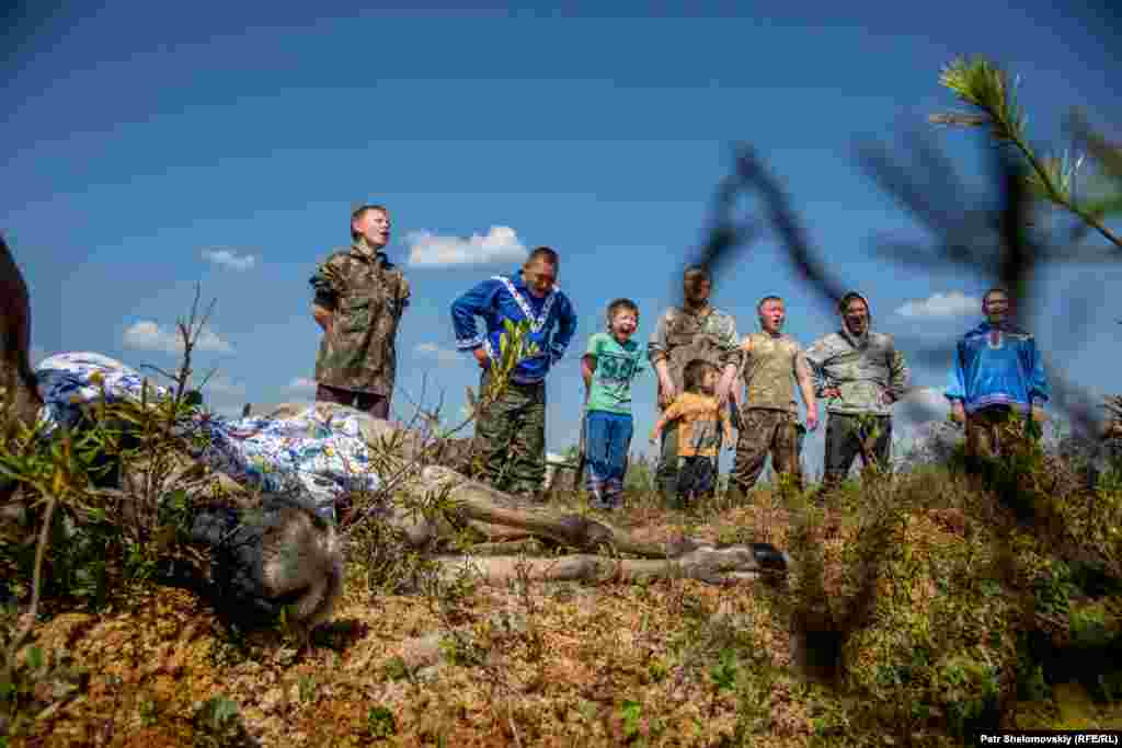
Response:
POLYGON ((614 509, 623 501, 627 450, 634 431, 631 385, 649 368, 646 352, 631 338, 638 329, 638 306, 629 298, 608 305, 608 332, 594 333, 581 359, 588 389, 585 413, 585 456, 589 502, 614 509))

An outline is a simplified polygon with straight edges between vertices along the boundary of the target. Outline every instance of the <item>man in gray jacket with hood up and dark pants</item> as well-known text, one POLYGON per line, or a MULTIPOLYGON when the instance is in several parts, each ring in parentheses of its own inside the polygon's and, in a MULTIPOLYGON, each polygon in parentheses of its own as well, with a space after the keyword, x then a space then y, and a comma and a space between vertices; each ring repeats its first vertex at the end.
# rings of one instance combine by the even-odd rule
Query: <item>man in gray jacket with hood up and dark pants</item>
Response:
POLYGON ((838 303, 842 329, 807 350, 817 395, 827 400, 822 493, 845 480, 858 454, 862 463, 888 465, 892 404, 908 389, 908 366, 892 335, 870 330, 868 301, 856 292, 838 303), (864 423, 863 423, 864 422, 864 423))

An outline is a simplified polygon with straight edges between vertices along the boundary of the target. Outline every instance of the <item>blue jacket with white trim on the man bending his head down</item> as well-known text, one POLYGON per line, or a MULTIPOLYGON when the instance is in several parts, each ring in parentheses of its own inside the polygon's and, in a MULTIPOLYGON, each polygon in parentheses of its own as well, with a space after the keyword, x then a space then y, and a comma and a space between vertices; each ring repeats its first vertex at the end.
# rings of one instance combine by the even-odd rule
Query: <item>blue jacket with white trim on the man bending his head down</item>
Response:
POLYGON ((519 384, 544 380, 577 332, 577 316, 569 297, 554 286, 544 297, 537 298, 526 288, 522 273, 516 271, 484 280, 452 302, 456 347, 467 351, 482 345, 488 358, 497 360, 504 320, 532 321, 527 342, 536 343, 539 352, 521 361, 511 373, 511 380, 519 384), (477 316, 482 317, 487 326, 482 335, 476 327, 477 316))

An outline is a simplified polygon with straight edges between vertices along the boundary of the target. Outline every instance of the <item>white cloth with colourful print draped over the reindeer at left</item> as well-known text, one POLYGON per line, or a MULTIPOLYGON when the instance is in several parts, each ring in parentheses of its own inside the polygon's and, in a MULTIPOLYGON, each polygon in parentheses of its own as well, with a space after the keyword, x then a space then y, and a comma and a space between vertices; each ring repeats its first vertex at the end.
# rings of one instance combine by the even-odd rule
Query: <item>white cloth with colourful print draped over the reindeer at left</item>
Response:
MULTIPOLYGON (((45 433, 73 426, 81 406, 102 397, 108 403, 142 397, 167 398, 166 387, 145 382, 135 369, 98 353, 58 353, 36 367, 45 433), (100 380, 100 381, 99 381, 100 380), (144 388, 147 387, 147 394, 144 388)), ((374 490, 378 477, 362 437, 361 414, 306 409, 284 419, 226 418, 197 408, 180 433, 193 436, 195 459, 242 486, 297 496, 323 517, 334 519, 335 501, 356 490, 374 490)))

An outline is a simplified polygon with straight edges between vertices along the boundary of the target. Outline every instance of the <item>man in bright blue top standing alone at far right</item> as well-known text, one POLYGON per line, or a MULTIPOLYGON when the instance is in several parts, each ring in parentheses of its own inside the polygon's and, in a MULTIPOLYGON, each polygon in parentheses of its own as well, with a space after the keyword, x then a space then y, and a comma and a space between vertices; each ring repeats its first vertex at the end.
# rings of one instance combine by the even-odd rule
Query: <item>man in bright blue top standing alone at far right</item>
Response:
POLYGON ((1036 340, 1009 321, 1009 294, 986 292, 982 313, 985 322, 958 341, 946 391, 950 417, 966 424, 966 456, 974 469, 1012 446, 1001 435, 1014 410, 1040 423, 1049 398, 1036 340))

